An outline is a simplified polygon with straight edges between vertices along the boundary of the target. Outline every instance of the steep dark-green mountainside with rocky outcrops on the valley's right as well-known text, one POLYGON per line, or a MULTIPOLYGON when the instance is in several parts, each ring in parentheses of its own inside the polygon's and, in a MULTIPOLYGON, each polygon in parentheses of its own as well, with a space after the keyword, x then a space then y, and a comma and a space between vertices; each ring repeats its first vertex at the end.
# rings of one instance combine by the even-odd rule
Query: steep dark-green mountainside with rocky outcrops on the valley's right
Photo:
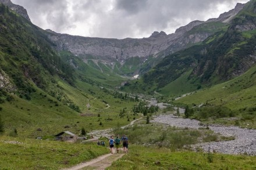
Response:
POLYGON ((187 34, 214 26, 216 32, 201 44, 166 56, 141 81, 130 81, 122 89, 182 95, 245 73, 256 62, 255 3, 248 3, 230 24, 211 22, 194 27, 187 34))

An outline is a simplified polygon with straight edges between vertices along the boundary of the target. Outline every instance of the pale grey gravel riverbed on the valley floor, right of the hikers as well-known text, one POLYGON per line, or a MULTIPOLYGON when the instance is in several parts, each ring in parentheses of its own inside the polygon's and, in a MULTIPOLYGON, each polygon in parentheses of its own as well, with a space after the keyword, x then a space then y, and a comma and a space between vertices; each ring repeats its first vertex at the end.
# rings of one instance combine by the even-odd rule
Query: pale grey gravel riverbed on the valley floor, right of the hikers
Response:
MULTIPOLYGON (((200 125, 200 121, 179 118, 174 115, 159 115, 151 122, 158 122, 162 124, 168 124, 180 128, 204 128, 200 125)), ((208 142, 192 145, 193 149, 201 147, 203 150, 216 151, 218 153, 225 154, 248 154, 256 155, 256 130, 239 128, 237 126, 221 126, 221 125, 209 125, 208 126, 215 133, 219 133, 223 136, 234 136, 234 140, 222 141, 222 142, 208 142)))

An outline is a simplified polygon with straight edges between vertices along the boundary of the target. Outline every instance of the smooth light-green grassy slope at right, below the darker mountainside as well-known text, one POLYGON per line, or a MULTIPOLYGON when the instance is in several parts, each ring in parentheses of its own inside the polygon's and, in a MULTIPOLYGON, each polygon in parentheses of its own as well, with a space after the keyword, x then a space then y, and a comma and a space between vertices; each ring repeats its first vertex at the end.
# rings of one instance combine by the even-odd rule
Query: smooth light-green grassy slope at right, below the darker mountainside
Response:
POLYGON ((176 100, 175 103, 193 105, 214 104, 233 110, 255 106, 256 66, 230 81, 195 91, 191 95, 176 100))

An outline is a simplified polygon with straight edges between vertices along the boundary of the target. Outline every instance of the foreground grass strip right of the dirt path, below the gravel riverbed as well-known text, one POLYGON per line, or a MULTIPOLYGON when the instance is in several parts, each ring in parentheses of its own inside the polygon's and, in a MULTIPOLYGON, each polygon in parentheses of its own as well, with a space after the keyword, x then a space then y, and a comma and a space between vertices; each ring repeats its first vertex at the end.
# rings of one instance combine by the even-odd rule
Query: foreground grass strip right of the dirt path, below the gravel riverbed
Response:
POLYGON ((255 169, 256 157, 130 145, 129 153, 106 169, 255 169))

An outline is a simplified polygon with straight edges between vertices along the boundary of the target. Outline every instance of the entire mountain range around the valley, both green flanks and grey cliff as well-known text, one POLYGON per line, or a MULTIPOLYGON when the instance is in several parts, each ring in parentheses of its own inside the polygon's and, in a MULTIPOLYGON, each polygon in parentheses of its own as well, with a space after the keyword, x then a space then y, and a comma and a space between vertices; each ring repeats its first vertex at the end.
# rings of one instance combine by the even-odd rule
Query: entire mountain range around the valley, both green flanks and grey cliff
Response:
MULTIPOLYGON (((42 30, 22 6, 0 2, 0 111, 5 115, 24 108, 17 103, 39 107, 35 117, 45 114, 45 103, 51 116, 58 117, 59 110, 94 113, 116 105, 118 98, 132 100, 116 91, 172 98, 240 76, 247 76, 241 78, 242 89, 255 86, 245 74, 256 62, 255 0, 237 3, 216 19, 192 21, 173 34, 155 31, 140 39, 42 30)), ((24 117, 29 110, 23 110, 24 117)))

